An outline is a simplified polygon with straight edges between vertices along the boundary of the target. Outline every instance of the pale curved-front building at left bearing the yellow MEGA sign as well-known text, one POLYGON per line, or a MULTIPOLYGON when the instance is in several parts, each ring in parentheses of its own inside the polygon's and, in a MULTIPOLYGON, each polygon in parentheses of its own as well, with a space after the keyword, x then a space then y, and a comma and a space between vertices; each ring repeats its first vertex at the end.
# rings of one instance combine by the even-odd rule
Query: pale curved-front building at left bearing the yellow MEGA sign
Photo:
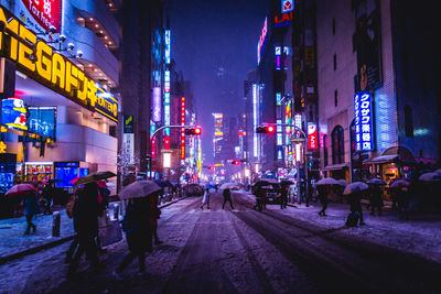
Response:
MULTIPOLYGON (((0 183, 116 171, 120 46, 115 1, 1 1, 0 183), (43 18, 46 21, 42 21, 43 18), (18 25, 14 25, 18 23, 18 25), (25 36, 20 39, 20 36, 25 36), (17 48, 19 48, 17 51, 17 48)), ((110 179, 114 181, 114 179, 110 179)))

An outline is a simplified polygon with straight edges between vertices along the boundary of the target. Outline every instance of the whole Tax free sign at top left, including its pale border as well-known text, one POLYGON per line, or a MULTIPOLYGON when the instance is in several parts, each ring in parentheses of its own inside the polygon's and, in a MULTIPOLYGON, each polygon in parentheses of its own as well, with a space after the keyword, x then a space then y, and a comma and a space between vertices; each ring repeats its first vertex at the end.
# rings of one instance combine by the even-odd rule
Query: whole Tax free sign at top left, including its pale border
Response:
POLYGON ((15 15, 35 32, 45 33, 50 26, 60 33, 62 19, 62 0, 18 0, 15 15))

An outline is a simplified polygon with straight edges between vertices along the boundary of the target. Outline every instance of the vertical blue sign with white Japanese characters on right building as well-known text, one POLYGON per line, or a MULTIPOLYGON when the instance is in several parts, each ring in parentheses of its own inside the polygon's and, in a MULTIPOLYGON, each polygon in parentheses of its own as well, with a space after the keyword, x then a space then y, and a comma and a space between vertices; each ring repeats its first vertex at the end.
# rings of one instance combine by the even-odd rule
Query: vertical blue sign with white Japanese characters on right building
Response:
POLYGON ((354 97, 355 143, 357 151, 372 151, 373 122, 372 96, 369 92, 359 92, 354 97))

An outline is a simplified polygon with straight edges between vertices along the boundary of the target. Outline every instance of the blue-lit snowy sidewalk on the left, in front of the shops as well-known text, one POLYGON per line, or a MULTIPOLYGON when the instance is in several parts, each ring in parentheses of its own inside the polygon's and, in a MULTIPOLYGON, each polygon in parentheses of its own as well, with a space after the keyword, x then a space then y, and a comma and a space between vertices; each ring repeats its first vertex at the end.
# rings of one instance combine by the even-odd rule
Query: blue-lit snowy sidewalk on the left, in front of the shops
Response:
MULTIPOLYGON (((161 203, 159 208, 164 208, 186 197, 181 197, 170 202, 161 203)), ((24 235, 26 229, 25 217, 9 218, 0 220, 0 264, 34 253, 45 248, 51 248, 68 241, 75 235, 73 219, 68 218, 65 209, 60 210, 61 231, 60 237, 52 237, 52 215, 37 215, 32 220, 36 226, 36 231, 24 235)), ((32 230, 31 230, 32 231, 32 230)))

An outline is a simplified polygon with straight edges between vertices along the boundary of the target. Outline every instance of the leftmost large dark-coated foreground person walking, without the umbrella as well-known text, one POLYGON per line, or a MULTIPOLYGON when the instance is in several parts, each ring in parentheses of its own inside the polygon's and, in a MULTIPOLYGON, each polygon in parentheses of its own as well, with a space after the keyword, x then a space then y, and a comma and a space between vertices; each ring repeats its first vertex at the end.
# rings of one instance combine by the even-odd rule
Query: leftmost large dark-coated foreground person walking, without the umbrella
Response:
POLYGON ((83 253, 86 253, 93 268, 97 269, 99 266, 95 241, 98 235, 99 210, 98 185, 95 182, 87 183, 84 189, 78 193, 78 203, 75 205, 74 209, 74 224, 77 226, 78 249, 73 257, 67 275, 75 274, 83 253))

